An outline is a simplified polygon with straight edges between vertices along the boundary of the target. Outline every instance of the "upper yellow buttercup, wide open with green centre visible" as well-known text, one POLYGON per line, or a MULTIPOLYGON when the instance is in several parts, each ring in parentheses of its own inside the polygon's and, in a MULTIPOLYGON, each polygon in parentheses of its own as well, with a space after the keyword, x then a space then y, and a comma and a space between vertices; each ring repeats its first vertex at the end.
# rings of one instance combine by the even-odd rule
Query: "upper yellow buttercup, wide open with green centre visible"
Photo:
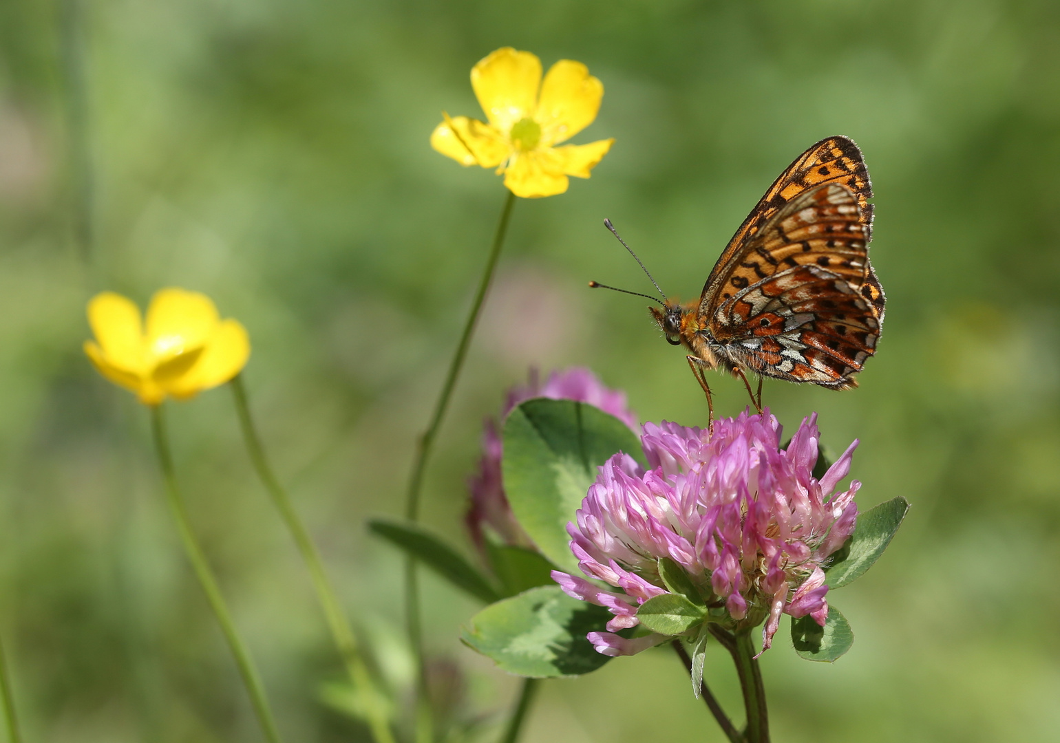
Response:
POLYGON ((615 141, 555 146, 600 110, 603 84, 580 61, 561 59, 542 83, 541 59, 505 47, 472 68, 471 85, 489 123, 443 114, 430 146, 462 165, 496 167, 516 196, 562 194, 567 176, 588 178, 615 141))

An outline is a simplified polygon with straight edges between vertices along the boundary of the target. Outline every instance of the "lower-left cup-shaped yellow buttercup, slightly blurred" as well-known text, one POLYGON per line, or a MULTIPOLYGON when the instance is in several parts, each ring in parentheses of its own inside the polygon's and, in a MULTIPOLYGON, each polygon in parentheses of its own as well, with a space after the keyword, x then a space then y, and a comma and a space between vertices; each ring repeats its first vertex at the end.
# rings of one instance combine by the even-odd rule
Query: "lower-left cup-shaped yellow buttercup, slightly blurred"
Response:
POLYGON ((146 328, 131 300, 104 291, 88 303, 88 322, 95 340, 85 341, 85 353, 101 374, 145 405, 223 385, 250 356, 246 329, 222 320, 210 298, 197 291, 156 291, 146 328))

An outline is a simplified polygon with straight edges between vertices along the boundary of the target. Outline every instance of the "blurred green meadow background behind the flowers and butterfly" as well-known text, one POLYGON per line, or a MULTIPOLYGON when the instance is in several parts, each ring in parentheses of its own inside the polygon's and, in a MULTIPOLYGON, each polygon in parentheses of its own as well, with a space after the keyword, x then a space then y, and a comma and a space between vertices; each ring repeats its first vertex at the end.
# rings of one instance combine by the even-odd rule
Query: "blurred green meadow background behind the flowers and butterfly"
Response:
MULTIPOLYGON (((481 113, 501 46, 584 61, 606 94, 587 181, 516 204, 446 421, 425 520, 462 536, 481 420, 527 368, 590 366, 641 420, 702 394, 601 227, 664 288, 700 290, 780 170, 852 137, 887 290, 858 390, 767 383, 789 430, 862 441, 868 508, 913 510, 834 595, 834 666, 763 657, 774 739, 1056 740, 1060 729, 1060 5, 1050 0, 0 3, 0 635, 28 741, 258 741, 164 511, 147 415, 81 351, 86 300, 212 296, 249 329, 251 403, 281 479, 390 677, 407 679, 396 515, 504 200, 427 144, 481 113)), ((723 413, 745 402, 716 377, 723 413)), ((320 703, 341 671, 226 388, 171 406, 196 528, 290 741, 363 741, 320 703)), ((470 548, 469 548, 470 552, 470 548)), ((476 611, 428 578, 428 645, 495 735, 515 679, 457 641, 476 611)), ((714 648, 707 676, 741 718, 714 648)), ((720 741, 667 651, 549 682, 525 742, 720 741)), ((492 739, 492 738, 488 738, 492 739)))

